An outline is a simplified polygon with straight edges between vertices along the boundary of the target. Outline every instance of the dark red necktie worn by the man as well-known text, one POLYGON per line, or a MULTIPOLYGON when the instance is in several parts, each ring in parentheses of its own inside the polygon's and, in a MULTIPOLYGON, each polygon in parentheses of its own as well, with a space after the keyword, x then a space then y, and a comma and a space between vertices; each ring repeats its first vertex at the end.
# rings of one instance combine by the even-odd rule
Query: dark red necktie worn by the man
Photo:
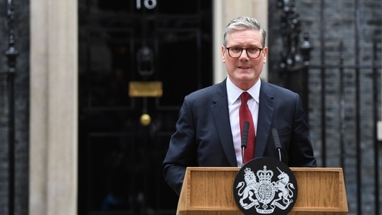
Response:
POLYGON ((244 164, 253 159, 255 156, 255 127, 253 124, 252 114, 248 108, 248 98, 250 97, 249 93, 241 93, 241 105, 239 109, 239 123, 240 123, 240 134, 243 134, 244 122, 249 122, 248 128, 248 142, 247 147, 244 151, 244 164))

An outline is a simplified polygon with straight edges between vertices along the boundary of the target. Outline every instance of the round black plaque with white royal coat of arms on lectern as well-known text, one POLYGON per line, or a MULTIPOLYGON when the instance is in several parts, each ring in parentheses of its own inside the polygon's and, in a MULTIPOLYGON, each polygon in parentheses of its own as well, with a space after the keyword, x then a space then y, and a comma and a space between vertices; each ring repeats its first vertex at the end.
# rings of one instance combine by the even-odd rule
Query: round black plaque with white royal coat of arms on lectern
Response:
POLYGON ((244 214, 287 214, 296 202, 296 178, 277 159, 253 159, 237 173, 234 198, 244 214))

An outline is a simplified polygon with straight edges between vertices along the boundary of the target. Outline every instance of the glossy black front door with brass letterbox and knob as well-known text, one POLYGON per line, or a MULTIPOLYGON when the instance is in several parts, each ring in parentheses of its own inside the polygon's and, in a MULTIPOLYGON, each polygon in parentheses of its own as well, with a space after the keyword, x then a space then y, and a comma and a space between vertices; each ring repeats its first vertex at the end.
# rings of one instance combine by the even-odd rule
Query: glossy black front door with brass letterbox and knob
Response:
POLYGON ((212 1, 79 0, 79 215, 175 214, 161 162, 212 84, 212 1))

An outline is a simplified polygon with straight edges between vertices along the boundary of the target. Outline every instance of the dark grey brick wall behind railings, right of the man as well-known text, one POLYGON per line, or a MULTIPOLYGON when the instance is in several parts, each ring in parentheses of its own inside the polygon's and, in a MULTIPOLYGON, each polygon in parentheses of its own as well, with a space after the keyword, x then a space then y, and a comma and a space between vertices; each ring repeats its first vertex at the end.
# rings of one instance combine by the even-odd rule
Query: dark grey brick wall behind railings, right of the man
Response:
MULTIPOLYGON (((282 38, 279 33, 282 10, 277 7, 277 2, 276 0, 269 1, 269 79, 271 82, 285 84, 278 74, 280 71, 278 53, 282 51, 282 38)), ((375 0, 296 0, 295 3, 303 31, 308 31, 310 42, 314 47, 311 52, 307 90, 309 92, 310 134, 318 165, 323 166, 325 163, 325 167, 343 167, 349 214, 357 214, 359 188, 360 196, 362 196, 360 198, 362 212, 374 214, 375 188, 376 184, 380 183, 375 182, 374 175, 381 173, 374 171, 374 144, 379 143, 374 142, 373 132, 375 122, 381 118, 381 114, 380 111, 377 114, 373 113, 374 104, 379 106, 380 101, 374 101, 373 80, 375 77, 372 76, 371 66, 373 40, 379 42, 379 60, 376 62, 381 65, 382 2, 375 0), (322 16, 324 22, 321 22, 321 6, 324 8, 322 16), (358 30, 356 29, 357 7, 360 17, 358 30), (321 36, 324 37, 324 40, 321 40, 321 36), (344 47, 342 58, 345 65, 342 79, 338 68, 341 41, 344 47), (359 73, 354 67, 357 63, 360 65, 359 73), (325 70, 321 70, 321 65, 326 65, 325 70), (323 71, 326 75, 324 89, 321 87, 323 71), (340 88, 341 80, 344 81, 343 94, 340 88), (321 93, 323 92, 325 93, 324 123, 321 121, 323 117, 321 93), (358 95, 357 92, 359 92, 358 95), (344 103, 341 104, 340 101, 344 103), (344 118, 341 117, 342 113, 344 113, 342 115, 344 118), (325 162, 322 151, 323 127, 326 135, 325 162), (342 131, 344 132, 342 133, 342 131), (341 150, 341 145, 344 146, 344 150, 341 150), (341 158, 344 159, 344 166, 342 166, 341 158), (359 181, 357 180, 358 173, 361 176, 359 181), (361 187, 358 187, 358 182, 361 187)), ((380 73, 380 69, 378 71, 380 73)), ((379 83, 380 76, 376 78, 379 83)), ((378 86, 378 89, 376 93, 378 93, 378 97, 381 97, 381 87, 378 86)), ((380 109, 379 107, 378 110, 380 109)), ((380 157, 381 150, 377 153, 380 157)))

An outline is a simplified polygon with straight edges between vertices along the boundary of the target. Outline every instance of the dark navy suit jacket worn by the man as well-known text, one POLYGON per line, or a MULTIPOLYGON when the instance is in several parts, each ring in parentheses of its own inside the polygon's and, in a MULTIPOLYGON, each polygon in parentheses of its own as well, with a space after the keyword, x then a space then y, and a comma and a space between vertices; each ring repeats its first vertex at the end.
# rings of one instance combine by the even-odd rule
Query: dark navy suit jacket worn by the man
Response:
MULTIPOLYGON (((163 162, 164 179, 177 195, 188 166, 237 166, 225 81, 184 97, 163 162)), ((272 128, 278 130, 282 162, 289 167, 316 167, 299 95, 262 81, 255 158, 279 159, 272 128)))

